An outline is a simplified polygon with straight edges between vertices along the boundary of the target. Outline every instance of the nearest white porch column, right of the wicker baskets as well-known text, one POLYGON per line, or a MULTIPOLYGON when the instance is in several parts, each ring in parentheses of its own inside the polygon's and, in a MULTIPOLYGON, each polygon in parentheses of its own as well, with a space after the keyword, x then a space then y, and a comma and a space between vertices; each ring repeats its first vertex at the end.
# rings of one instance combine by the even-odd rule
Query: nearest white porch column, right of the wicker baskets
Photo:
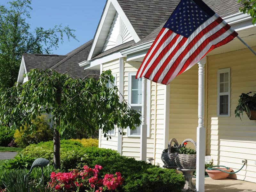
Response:
POLYGON ((196 130, 196 191, 204 192, 204 159, 205 159, 205 127, 204 127, 204 66, 206 57, 198 62, 198 127, 196 130))

